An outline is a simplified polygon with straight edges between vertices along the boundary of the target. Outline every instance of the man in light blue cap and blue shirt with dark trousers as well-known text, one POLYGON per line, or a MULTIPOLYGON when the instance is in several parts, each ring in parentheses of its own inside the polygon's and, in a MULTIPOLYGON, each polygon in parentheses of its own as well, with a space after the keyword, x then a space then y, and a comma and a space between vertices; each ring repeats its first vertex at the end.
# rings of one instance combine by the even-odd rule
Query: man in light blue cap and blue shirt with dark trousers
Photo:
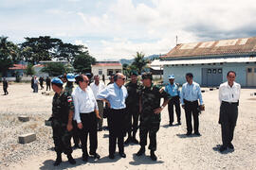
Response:
POLYGON ((179 89, 178 84, 174 82, 174 75, 169 76, 169 83, 165 86, 165 92, 169 93, 172 96, 172 99, 169 100, 168 103, 168 112, 169 112, 169 126, 172 127, 174 123, 174 106, 175 112, 177 115, 177 124, 181 125, 180 123, 180 102, 179 102, 179 89))

